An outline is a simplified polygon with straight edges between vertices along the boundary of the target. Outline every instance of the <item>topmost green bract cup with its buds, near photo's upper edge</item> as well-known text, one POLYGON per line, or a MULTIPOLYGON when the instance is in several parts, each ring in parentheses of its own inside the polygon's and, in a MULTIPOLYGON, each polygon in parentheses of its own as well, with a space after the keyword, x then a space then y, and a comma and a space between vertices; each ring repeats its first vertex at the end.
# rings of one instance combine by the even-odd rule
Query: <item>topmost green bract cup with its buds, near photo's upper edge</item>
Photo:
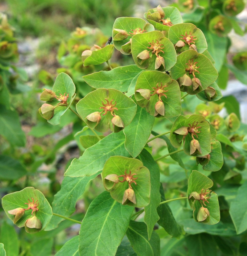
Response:
MULTIPOLYGON (((158 7, 160 7, 160 6, 158 6, 158 7)), ((175 7, 163 7, 163 8, 161 8, 160 7, 160 9, 162 9, 163 12, 164 12, 164 16, 162 16, 158 12, 157 8, 150 9, 150 10, 148 10, 147 13, 144 14, 144 17, 148 20, 149 23, 154 25, 154 27, 156 29, 158 29, 158 30, 169 30, 169 28, 171 27, 171 25, 169 24, 169 19, 170 19, 170 22, 171 22, 172 25, 183 22, 181 14, 180 14, 180 12, 177 8, 175 8, 175 7), (166 22, 168 22, 169 25, 163 25, 163 21, 161 19, 164 20, 165 24, 167 24, 166 22)))

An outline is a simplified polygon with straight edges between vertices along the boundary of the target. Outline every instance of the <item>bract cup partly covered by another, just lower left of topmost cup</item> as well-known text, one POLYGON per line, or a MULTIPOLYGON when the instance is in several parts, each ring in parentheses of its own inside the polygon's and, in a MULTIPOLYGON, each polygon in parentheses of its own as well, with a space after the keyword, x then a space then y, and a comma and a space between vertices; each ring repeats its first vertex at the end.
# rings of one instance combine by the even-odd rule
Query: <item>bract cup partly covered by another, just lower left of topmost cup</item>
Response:
POLYGON ((141 18, 120 17, 113 24, 112 40, 122 54, 131 54, 131 40, 137 34, 154 31, 154 26, 141 18))

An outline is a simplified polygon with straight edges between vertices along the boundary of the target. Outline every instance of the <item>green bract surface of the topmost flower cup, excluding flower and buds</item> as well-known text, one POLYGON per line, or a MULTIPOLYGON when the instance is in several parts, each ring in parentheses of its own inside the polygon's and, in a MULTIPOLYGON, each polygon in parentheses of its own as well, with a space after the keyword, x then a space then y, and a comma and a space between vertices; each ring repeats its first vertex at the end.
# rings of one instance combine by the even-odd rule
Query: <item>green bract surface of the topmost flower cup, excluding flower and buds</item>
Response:
MULTIPOLYGON (((172 24, 178 24, 178 23, 183 23, 183 20, 182 20, 182 17, 181 17, 181 14, 179 12, 179 10, 175 7, 163 7, 162 8, 164 13, 165 13, 165 16, 164 16, 164 20, 167 19, 167 18, 170 18, 172 24)), ((162 22, 156 22, 155 20, 152 20, 148 17, 148 15, 151 15, 153 13, 156 13, 157 12, 157 8, 153 8, 153 9, 150 9, 148 10, 147 13, 144 13, 144 17, 147 19, 147 21, 149 23, 151 23, 152 25, 154 25, 154 27, 158 30, 169 30, 169 26, 166 26, 166 25, 163 25, 162 22)))

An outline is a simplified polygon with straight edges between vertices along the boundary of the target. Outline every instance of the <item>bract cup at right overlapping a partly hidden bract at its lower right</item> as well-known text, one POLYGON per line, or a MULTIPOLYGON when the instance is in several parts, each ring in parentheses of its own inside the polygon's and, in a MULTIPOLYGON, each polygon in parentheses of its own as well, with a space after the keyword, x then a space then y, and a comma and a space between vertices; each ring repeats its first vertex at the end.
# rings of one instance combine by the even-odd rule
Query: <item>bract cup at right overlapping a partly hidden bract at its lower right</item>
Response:
POLYGON ((202 115, 191 115, 189 118, 180 115, 170 132, 172 145, 180 147, 184 140, 184 152, 193 156, 205 156, 211 152, 209 138, 210 127, 202 115))

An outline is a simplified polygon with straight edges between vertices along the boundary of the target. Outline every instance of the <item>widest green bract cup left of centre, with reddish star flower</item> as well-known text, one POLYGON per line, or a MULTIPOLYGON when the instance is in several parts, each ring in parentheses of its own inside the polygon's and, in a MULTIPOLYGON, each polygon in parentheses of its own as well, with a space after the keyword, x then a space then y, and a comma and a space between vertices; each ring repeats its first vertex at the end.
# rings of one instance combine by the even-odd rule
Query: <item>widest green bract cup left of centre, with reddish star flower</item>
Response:
POLYGON ((136 113, 136 103, 115 89, 97 89, 76 104, 81 118, 90 128, 99 132, 122 130, 131 123, 136 113))

